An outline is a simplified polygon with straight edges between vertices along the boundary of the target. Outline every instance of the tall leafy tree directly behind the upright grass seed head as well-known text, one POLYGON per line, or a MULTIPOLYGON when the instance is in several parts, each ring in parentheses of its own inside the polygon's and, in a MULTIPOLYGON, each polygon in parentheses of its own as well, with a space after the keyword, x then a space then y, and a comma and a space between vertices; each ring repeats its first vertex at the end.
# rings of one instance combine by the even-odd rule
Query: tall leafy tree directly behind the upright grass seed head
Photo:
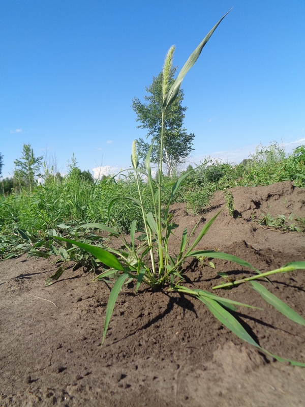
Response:
MULTIPOLYGON (((177 67, 172 67, 168 73, 168 87, 174 82, 174 74, 177 67)), ((161 146, 161 125, 162 125, 162 105, 163 105, 163 72, 153 78, 153 83, 146 88, 150 95, 144 96, 142 103, 138 98, 133 99, 132 108, 137 113, 137 122, 142 123, 137 126, 147 129, 146 138, 150 142, 145 142, 142 138, 138 140, 137 150, 140 159, 145 159, 151 141, 155 138, 153 150, 151 151, 151 162, 158 163, 161 146)), ((185 111, 187 107, 182 106, 184 93, 180 89, 172 105, 167 109, 164 121, 163 156, 162 161, 167 169, 167 175, 172 176, 178 165, 185 161, 191 153, 194 133, 188 133, 184 126, 185 111)))

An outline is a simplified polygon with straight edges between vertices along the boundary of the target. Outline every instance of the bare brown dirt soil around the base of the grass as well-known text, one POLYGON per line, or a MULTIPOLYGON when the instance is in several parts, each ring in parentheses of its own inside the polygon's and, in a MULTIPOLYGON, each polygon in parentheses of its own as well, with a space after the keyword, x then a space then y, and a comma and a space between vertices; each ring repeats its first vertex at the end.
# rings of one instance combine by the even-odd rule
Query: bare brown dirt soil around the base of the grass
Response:
MULTIPOLYGON (((231 190, 237 218, 229 217, 217 193, 202 224, 224 208, 199 249, 240 256, 261 271, 305 259, 304 234, 262 227, 252 221, 270 213, 305 217, 305 190, 290 182, 231 190)), ((198 216, 172 207, 179 223, 172 239, 198 216)), ((207 264, 207 263, 206 263, 207 264)), ((124 287, 101 347, 110 287, 72 266, 53 285, 44 282, 56 265, 19 258, 0 263, 1 406, 192 406, 294 407, 305 405, 305 368, 282 364, 242 342, 191 297, 151 292, 134 296, 124 287)), ((191 261, 187 286, 210 290, 222 279, 251 275, 223 260, 216 269, 191 261)), ((263 282, 305 317, 305 275, 295 271, 263 282)), ((248 285, 219 295, 263 310, 239 308, 235 316, 273 354, 305 362, 305 327, 290 322, 248 285)))

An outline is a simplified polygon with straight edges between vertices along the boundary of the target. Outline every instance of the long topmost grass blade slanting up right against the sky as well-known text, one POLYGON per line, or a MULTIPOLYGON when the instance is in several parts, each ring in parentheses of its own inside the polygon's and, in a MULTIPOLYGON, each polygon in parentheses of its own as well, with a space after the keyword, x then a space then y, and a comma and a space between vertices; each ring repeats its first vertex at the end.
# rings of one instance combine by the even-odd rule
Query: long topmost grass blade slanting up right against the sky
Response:
MULTIPOLYGON (((231 10, 228 11, 228 13, 231 10)), ((226 13, 219 21, 218 23, 209 31, 209 33, 204 37, 204 39, 201 41, 201 43, 198 45, 198 47, 191 53, 188 61, 185 63, 185 65, 182 67, 181 71, 179 72, 179 75, 177 76, 177 79, 175 80, 175 82, 172 84, 170 90, 168 91, 168 93, 165 96, 164 99, 164 103, 162 106, 162 111, 165 112, 165 110, 173 103, 173 101, 175 100, 179 89, 180 89, 180 85, 182 83, 182 80, 184 79, 184 77, 186 76, 186 74, 189 72, 189 70, 192 68, 192 66, 195 64, 195 62, 198 60, 199 55, 201 54, 201 51, 203 49, 203 47, 205 46, 205 44, 208 42, 208 40, 210 39, 210 37, 212 36, 212 34, 214 33, 214 31, 216 30, 216 28, 218 27, 218 25, 221 23, 221 21, 226 17, 226 15, 228 14, 226 13)))

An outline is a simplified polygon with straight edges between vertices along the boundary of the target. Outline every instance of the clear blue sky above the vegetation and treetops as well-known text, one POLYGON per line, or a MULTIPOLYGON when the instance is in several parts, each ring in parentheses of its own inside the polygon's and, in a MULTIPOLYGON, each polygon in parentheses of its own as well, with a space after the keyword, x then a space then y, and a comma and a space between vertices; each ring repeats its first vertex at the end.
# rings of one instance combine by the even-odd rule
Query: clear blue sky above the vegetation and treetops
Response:
POLYGON ((176 45, 181 68, 231 8, 182 83, 194 157, 238 162, 260 142, 305 143, 304 0, 2 0, 0 153, 23 143, 66 171, 129 166, 131 108, 176 45))

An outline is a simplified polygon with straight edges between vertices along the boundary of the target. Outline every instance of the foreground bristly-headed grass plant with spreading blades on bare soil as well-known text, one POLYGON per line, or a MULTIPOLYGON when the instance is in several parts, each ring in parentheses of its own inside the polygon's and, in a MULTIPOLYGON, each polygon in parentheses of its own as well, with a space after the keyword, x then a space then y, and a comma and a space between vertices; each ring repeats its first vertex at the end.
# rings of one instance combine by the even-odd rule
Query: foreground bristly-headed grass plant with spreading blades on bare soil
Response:
MULTIPOLYGON (((71 248, 73 246, 77 246, 82 250, 89 252, 103 264, 103 272, 98 275, 94 279, 94 281, 102 281, 106 278, 113 279, 114 281, 105 314, 102 343, 105 340, 108 325, 120 289, 123 287, 124 284, 127 284, 128 282, 134 280, 135 294, 138 292, 139 286, 141 284, 146 284, 148 287, 154 290, 166 289, 169 293, 181 293, 197 298, 205 306, 207 306, 210 312, 215 315, 221 323, 223 323, 239 338, 242 338, 248 343, 251 343, 252 345, 259 348, 259 350, 263 351, 267 355, 278 359, 279 361, 288 361, 290 364, 293 365, 305 366, 305 364, 303 363, 294 362, 291 360, 283 359, 277 355, 272 355, 269 351, 264 350, 259 346, 259 344, 237 321, 233 314, 233 312, 236 311, 236 306, 250 307, 249 305, 241 304, 237 301, 232 301, 227 298, 221 298, 220 296, 217 296, 214 293, 209 293, 203 289, 191 289, 184 285, 184 263, 185 260, 189 257, 195 257, 198 259, 202 259, 204 257, 220 258, 228 261, 233 261, 240 266, 249 267, 250 269, 252 269, 256 273, 256 276, 252 278, 252 280, 267 277, 276 272, 288 272, 292 269, 304 269, 305 262, 291 263, 280 270, 276 270, 273 272, 270 271, 268 273, 262 274, 247 261, 242 260, 241 258, 238 258, 236 256, 218 251, 196 250, 197 245, 203 239, 219 213, 203 226, 199 234, 197 232, 195 234, 195 231, 197 229, 197 226, 200 224, 200 220, 190 232, 187 228, 185 228, 182 232, 179 252, 177 254, 174 254, 170 250, 170 235, 178 226, 172 221, 170 205, 173 202, 174 197, 179 190, 179 187, 181 187, 182 183, 184 183, 188 175, 190 175, 196 169, 190 169, 189 171, 182 174, 174 183, 172 183, 167 200, 166 202, 164 202, 163 196, 165 186, 162 172, 164 117, 168 109, 170 108, 171 103, 174 101, 175 97, 178 94, 182 80, 184 79, 188 71, 192 68, 192 66, 196 63, 204 45, 207 43, 207 41, 224 17, 222 17, 221 20, 212 28, 212 30, 207 34, 207 36, 191 54, 188 61, 181 69, 178 77, 170 88, 167 83, 166 73, 168 72, 172 64, 173 48, 170 48, 166 56, 163 68, 164 102, 162 107, 161 149, 157 178, 153 179, 151 175, 150 153, 153 148, 153 144, 151 144, 151 147, 148 151, 145 159, 145 168, 143 169, 139 167, 139 158, 136 153, 136 141, 134 141, 131 155, 131 170, 133 170, 135 174, 134 179, 138 192, 137 198, 135 198, 134 196, 120 195, 110 200, 108 205, 108 221, 111 227, 99 223, 87 223, 83 225, 84 228, 93 228, 106 231, 110 235, 117 237, 121 241, 121 249, 113 249, 108 246, 98 247, 97 245, 84 243, 80 240, 73 240, 58 236, 54 236, 54 239, 58 240, 59 242, 66 242, 67 250, 68 247, 71 248), (144 202, 143 179, 146 180, 146 188, 150 193, 150 204, 148 205, 148 210, 147 205, 145 205, 144 202), (126 237, 120 232, 117 227, 117 223, 112 220, 111 216, 111 211, 117 203, 119 203, 119 205, 127 205, 127 202, 131 203, 141 214, 141 225, 138 224, 137 219, 133 219, 130 224, 130 241, 127 240, 126 237)), ((54 276, 54 278, 55 277, 57 276, 54 276)), ((254 284, 253 288, 259 291, 263 298, 267 298, 268 295, 264 292, 263 288, 258 287, 256 282, 253 282, 252 280, 251 282, 252 284, 254 284)), ((244 279, 242 282, 246 282, 246 279, 244 279)), ((230 284, 234 285, 234 283, 230 284)), ((223 286, 225 286, 225 284, 223 284, 221 287, 223 286)), ((305 325, 304 319, 300 315, 296 317, 295 313, 293 314, 291 313, 291 311, 287 312, 287 306, 284 307, 282 304, 280 304, 280 300, 274 300, 272 298, 272 301, 270 301, 269 303, 272 303, 272 305, 279 309, 284 315, 290 317, 290 319, 297 323, 305 325)))

